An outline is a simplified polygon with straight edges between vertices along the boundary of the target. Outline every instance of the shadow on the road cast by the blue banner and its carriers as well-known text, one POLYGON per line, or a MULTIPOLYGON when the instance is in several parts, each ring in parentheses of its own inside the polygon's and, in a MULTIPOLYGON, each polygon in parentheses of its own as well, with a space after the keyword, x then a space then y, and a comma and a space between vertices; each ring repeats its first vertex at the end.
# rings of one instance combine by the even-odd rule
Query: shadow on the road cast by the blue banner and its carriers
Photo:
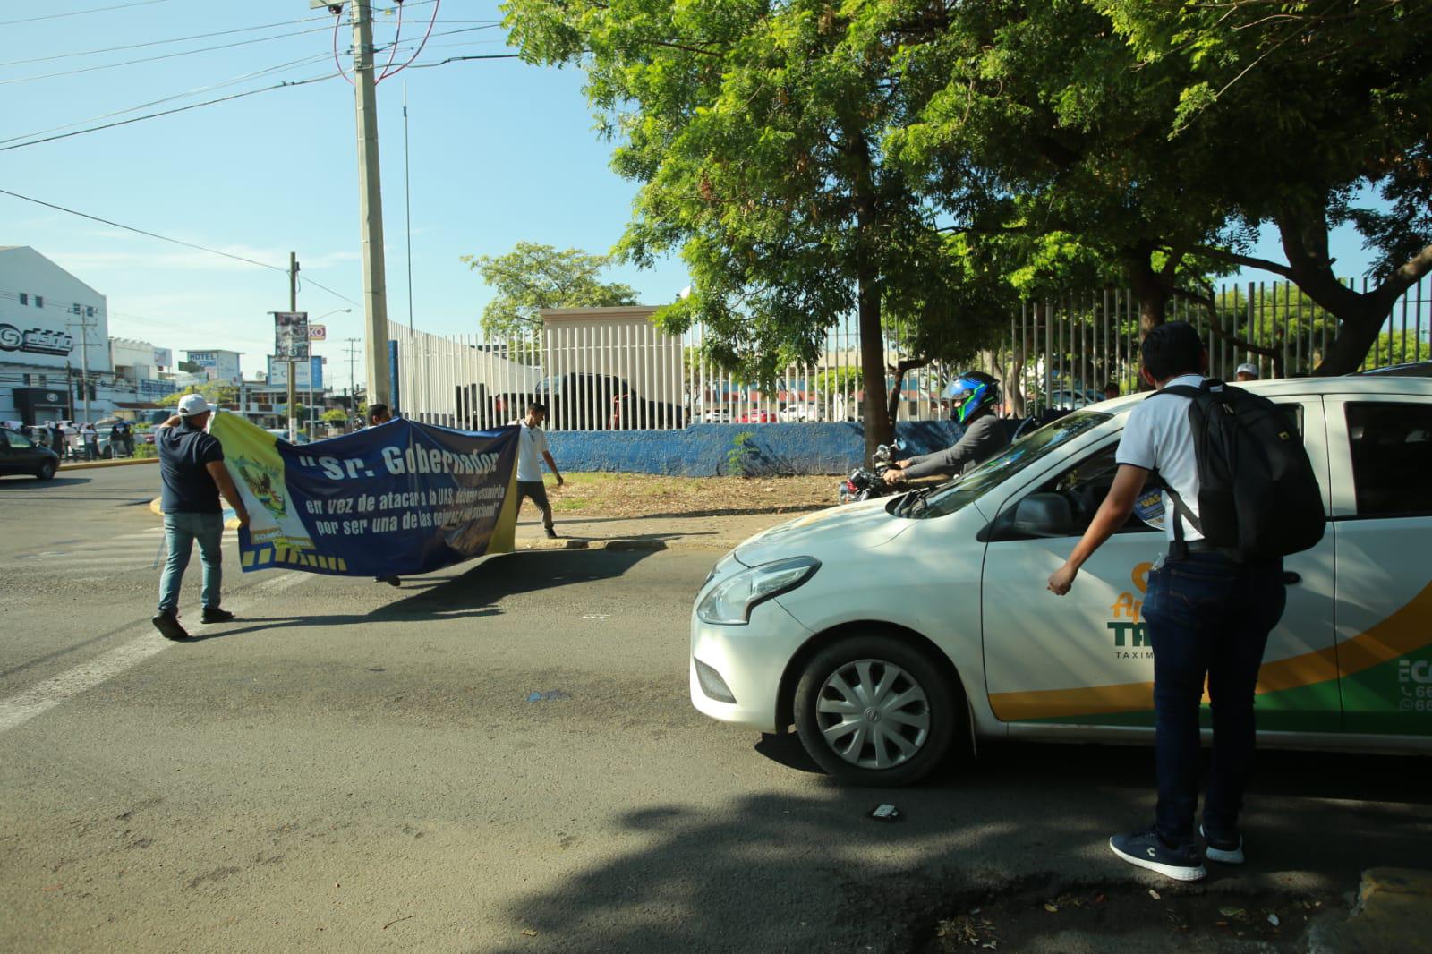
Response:
MULTIPOLYGON (((606 549, 508 553, 483 560, 457 577, 404 580, 402 599, 368 613, 251 616, 238 619, 233 626, 222 630, 195 633, 185 642, 225 639, 268 629, 498 616, 505 597, 614 579, 653 551, 654 549, 606 549)), ((387 592, 381 583, 375 582, 374 586, 387 592)))

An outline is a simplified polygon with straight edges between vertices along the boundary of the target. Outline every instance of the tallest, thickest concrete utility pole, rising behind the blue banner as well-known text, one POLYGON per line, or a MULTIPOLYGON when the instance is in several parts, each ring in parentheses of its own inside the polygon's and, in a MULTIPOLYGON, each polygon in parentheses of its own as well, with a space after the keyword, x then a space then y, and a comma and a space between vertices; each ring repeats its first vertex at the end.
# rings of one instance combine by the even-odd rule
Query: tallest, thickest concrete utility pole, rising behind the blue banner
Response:
POLYGON ((388 284, 382 261, 382 178, 378 172, 378 77, 374 74, 372 0, 352 0, 354 93, 358 109, 358 201, 368 403, 388 404, 388 284))

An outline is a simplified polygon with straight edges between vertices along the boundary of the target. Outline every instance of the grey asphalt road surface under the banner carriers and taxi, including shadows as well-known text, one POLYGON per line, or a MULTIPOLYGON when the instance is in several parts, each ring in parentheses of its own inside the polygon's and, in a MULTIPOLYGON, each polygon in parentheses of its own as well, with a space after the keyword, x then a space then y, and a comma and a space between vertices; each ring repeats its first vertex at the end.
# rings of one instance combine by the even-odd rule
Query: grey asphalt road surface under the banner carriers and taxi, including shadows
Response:
MULTIPOLYGON (((0 950, 904 951, 1031 885, 1179 897, 1104 847, 1151 812, 1146 749, 997 746, 859 791, 696 713, 715 553, 518 553, 401 590, 233 572, 213 627, 195 559, 199 637, 169 643, 156 478, 0 480, 0 950), (882 801, 904 821, 866 818, 882 801)), ((1197 891, 1429 867, 1425 766, 1267 753, 1252 864, 1197 891)))

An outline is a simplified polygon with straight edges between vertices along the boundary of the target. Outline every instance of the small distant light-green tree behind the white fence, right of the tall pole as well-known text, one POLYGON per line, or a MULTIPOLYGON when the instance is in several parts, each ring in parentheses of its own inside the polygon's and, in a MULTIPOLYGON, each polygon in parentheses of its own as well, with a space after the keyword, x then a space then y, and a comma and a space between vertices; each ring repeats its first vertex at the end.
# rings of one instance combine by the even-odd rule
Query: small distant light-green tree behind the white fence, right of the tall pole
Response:
POLYGON ((491 338, 534 338, 543 308, 610 308, 634 305, 636 291, 599 276, 611 264, 607 255, 576 248, 518 242, 507 255, 464 255, 461 261, 493 286, 483 309, 483 334, 491 338))

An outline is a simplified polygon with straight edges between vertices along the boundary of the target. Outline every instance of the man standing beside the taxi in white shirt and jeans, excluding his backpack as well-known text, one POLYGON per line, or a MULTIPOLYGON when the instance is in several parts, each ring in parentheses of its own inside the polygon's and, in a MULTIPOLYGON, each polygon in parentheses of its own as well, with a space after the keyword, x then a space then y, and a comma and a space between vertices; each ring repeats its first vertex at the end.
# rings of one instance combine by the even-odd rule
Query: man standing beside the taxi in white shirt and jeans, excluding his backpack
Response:
MULTIPOLYGON (((1199 332, 1183 321, 1160 325, 1143 342, 1143 377, 1160 391, 1203 384, 1209 355, 1199 332)), ((1050 576, 1064 596, 1080 566, 1128 520, 1151 471, 1166 490, 1167 560, 1148 573, 1143 616, 1154 650, 1154 749, 1158 806, 1146 831, 1114 835, 1110 848, 1124 861, 1180 881, 1196 881, 1210 861, 1243 862, 1239 812, 1253 769, 1253 695, 1267 635, 1283 616, 1282 560, 1240 562, 1209 547, 1199 531, 1199 468, 1190 398, 1158 394, 1128 414, 1118 443, 1118 473, 1084 537, 1050 576), (1181 521, 1183 544, 1174 543, 1181 521), (1213 758, 1203 805, 1199 805, 1199 705, 1207 682, 1213 713, 1213 758), (1199 851, 1201 834, 1206 852, 1199 851)))

